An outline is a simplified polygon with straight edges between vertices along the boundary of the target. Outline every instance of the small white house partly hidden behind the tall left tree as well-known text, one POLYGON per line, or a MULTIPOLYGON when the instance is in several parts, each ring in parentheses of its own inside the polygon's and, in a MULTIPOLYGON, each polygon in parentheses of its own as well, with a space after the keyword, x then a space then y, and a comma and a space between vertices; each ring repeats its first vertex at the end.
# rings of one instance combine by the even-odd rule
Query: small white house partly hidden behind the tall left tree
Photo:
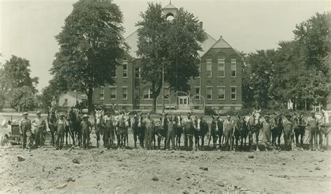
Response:
POLYGON ((87 103, 87 95, 83 92, 68 91, 59 95, 57 99, 57 106, 71 107, 80 103, 87 103))

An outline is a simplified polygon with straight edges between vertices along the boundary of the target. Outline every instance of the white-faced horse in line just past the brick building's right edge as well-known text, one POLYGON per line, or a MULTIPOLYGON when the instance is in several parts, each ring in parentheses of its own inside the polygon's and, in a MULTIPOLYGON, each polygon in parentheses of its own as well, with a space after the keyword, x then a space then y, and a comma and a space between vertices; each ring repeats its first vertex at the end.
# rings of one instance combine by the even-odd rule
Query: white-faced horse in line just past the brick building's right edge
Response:
POLYGON ((258 149, 258 135, 260 134, 260 129, 262 129, 262 122, 260 122, 261 114, 259 111, 254 111, 251 116, 247 116, 245 118, 247 122, 247 126, 249 129, 249 147, 252 149, 253 144, 253 134, 256 135, 256 151, 260 151, 258 149))

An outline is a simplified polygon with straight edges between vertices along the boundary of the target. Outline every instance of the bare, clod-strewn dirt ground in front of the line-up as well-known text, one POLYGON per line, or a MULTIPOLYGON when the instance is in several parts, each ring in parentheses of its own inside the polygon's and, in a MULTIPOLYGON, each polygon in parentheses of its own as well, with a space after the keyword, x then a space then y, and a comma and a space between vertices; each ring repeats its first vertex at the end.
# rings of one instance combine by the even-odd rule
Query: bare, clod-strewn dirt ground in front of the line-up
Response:
POLYGON ((330 151, 3 146, 0 193, 330 193, 330 159, 330 151))

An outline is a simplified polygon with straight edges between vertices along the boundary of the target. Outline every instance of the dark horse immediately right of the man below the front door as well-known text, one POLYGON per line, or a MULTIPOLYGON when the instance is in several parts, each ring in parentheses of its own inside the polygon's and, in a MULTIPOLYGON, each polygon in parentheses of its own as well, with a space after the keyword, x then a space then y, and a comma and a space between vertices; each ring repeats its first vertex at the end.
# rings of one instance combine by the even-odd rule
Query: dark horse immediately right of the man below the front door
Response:
POLYGON ((203 117, 198 118, 196 116, 196 120, 194 121, 194 138, 196 139, 196 150, 203 149, 205 145, 205 135, 209 131, 209 127, 207 122, 203 117), (200 146, 200 138, 201 138, 201 146, 200 146), (200 148, 201 147, 201 148, 200 148))

